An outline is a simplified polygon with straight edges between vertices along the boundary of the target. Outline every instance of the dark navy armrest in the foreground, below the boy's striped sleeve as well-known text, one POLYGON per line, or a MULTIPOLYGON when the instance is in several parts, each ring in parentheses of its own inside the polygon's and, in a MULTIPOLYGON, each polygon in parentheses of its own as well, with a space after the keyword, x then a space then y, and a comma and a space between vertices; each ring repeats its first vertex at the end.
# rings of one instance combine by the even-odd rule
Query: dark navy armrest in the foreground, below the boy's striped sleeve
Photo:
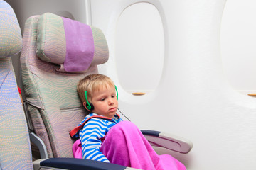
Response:
POLYGON ((129 167, 121 166, 118 164, 110 164, 106 162, 93 161, 89 159, 76 159, 76 158, 49 158, 40 162, 41 168, 47 169, 70 169, 70 170, 136 170, 129 167))

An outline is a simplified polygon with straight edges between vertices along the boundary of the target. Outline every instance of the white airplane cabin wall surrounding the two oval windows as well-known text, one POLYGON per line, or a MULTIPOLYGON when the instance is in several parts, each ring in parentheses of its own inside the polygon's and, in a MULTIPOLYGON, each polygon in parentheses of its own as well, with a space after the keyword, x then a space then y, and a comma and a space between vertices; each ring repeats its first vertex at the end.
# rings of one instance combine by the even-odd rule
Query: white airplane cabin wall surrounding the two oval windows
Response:
POLYGON ((166 39, 161 82, 145 96, 132 96, 119 86, 115 60, 119 15, 137 2, 91 1, 92 25, 103 30, 110 48, 110 60, 100 70, 119 87, 121 111, 139 128, 191 140, 190 153, 174 154, 187 169, 256 169, 255 98, 233 89, 223 72, 220 29, 225 0, 148 1, 159 9, 166 39))

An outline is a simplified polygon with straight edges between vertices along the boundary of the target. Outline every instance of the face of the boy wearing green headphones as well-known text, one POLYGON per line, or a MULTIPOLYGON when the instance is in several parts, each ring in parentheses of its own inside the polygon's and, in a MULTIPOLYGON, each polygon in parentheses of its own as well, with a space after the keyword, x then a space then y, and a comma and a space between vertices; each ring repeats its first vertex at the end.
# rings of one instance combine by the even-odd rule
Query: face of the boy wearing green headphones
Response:
POLYGON ((92 93, 92 104, 94 106, 93 113, 114 118, 118 108, 116 89, 108 86, 100 89, 100 91, 94 91, 92 93))

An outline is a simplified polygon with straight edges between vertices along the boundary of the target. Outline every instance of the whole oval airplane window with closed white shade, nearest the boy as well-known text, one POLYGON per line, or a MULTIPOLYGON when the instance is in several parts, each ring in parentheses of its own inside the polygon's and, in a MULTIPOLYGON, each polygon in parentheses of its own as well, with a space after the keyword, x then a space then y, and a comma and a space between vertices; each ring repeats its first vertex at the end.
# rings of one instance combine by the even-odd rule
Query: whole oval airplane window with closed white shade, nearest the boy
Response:
POLYGON ((133 4, 119 16, 115 55, 118 78, 127 92, 148 93, 158 86, 164 65, 162 25, 159 11, 149 3, 133 4))

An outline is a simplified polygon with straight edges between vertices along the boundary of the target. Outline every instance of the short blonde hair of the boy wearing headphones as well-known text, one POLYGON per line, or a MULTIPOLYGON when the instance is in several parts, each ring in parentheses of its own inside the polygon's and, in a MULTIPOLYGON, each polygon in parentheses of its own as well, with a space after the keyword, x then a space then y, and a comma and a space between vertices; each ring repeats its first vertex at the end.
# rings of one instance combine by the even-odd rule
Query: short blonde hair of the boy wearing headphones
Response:
POLYGON ((114 82, 110 79, 110 77, 107 77, 103 74, 90 74, 78 81, 77 90, 80 100, 83 103, 86 102, 85 91, 87 91, 88 101, 91 102, 93 91, 100 91, 103 88, 108 89, 112 86, 114 87, 114 82))

